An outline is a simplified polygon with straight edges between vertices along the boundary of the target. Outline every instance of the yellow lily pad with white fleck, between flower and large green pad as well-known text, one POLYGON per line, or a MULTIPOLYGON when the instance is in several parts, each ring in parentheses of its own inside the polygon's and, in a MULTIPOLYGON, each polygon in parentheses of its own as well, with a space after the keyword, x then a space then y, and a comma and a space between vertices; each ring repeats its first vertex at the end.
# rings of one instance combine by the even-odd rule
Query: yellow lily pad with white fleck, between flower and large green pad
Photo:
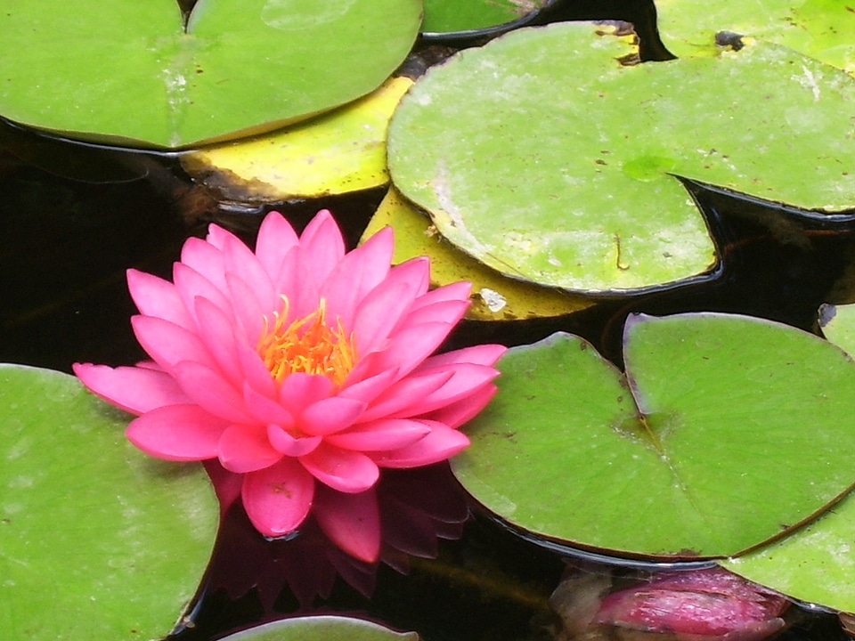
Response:
POLYGON ((416 256, 430 258, 430 281, 435 287, 458 280, 472 283, 472 300, 466 315, 475 321, 520 321, 560 316, 590 307, 590 297, 511 279, 452 247, 421 214, 391 188, 371 217, 362 242, 386 226, 395 230, 393 261, 416 256))

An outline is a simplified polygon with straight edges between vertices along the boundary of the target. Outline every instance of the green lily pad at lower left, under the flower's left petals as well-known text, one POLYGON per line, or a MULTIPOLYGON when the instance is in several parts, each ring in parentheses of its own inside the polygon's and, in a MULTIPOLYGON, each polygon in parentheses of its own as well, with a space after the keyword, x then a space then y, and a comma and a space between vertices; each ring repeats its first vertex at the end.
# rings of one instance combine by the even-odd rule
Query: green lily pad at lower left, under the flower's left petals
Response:
POLYGON ((204 470, 124 435, 74 377, 0 366, 0 629, 32 641, 161 638, 208 564, 204 470))

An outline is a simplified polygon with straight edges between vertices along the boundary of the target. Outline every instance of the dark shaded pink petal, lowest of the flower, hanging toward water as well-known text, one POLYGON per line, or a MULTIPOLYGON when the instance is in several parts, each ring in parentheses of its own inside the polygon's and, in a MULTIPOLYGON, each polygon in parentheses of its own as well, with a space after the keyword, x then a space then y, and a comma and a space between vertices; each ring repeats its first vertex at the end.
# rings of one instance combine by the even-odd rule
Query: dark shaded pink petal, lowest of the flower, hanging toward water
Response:
POLYGON ((338 548, 362 561, 377 561, 380 511, 373 489, 343 494, 321 485, 315 495, 314 516, 338 548))

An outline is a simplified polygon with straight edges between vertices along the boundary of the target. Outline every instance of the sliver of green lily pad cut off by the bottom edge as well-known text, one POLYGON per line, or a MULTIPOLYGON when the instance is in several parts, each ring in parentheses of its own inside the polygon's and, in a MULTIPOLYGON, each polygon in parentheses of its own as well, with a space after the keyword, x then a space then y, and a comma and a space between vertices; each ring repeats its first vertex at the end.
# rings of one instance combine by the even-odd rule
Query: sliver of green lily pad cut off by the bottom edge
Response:
POLYGON ((395 632, 378 623, 343 616, 298 617, 265 623, 223 641, 418 641, 415 632, 395 632))

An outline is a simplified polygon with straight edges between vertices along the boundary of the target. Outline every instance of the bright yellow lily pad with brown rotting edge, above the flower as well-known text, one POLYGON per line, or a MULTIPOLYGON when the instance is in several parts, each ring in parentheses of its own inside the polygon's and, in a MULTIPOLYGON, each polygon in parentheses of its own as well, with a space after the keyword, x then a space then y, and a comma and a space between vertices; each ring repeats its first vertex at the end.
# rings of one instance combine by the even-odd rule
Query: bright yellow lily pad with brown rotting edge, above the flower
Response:
POLYGON ((389 118, 410 85, 408 77, 389 78, 362 99, 317 118, 184 154, 182 166, 221 198, 244 203, 379 187, 389 182, 389 118))

